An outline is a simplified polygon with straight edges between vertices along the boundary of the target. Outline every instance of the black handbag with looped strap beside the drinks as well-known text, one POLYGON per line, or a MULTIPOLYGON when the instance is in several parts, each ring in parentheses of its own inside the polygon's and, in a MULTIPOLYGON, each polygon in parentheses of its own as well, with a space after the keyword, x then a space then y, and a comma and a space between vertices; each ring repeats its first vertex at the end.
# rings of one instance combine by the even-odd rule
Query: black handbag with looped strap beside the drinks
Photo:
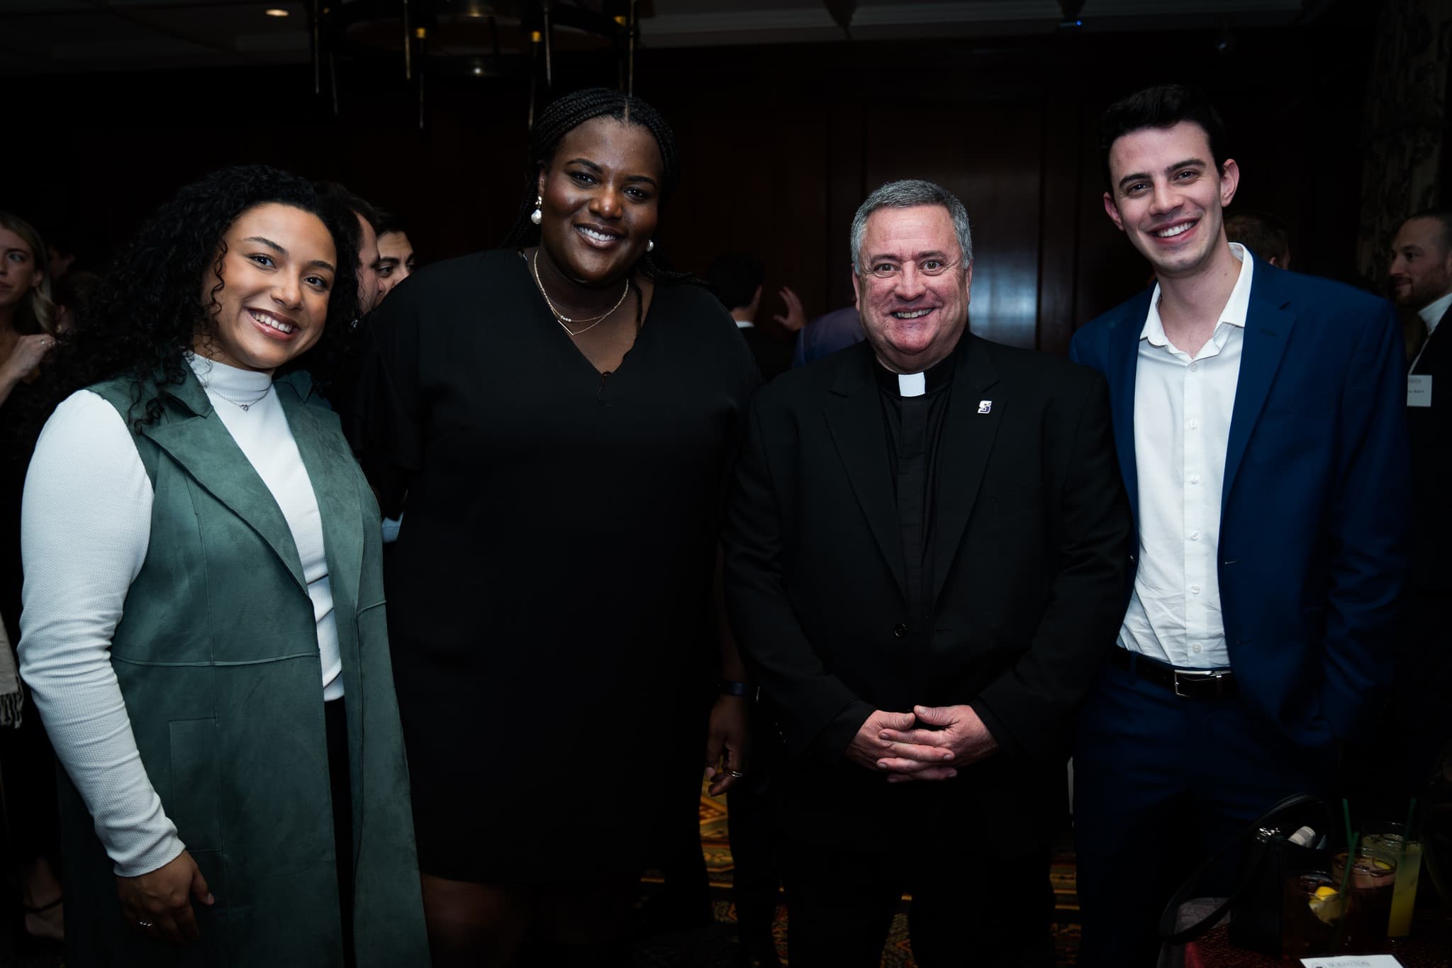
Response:
POLYGON ((1218 924, 1228 911, 1231 945, 1279 958, 1285 881, 1297 874, 1330 869, 1330 852, 1314 845, 1324 843, 1334 823, 1336 814, 1330 805, 1313 794, 1294 794, 1270 807, 1175 891, 1160 914, 1160 939, 1170 945, 1194 940, 1218 924), (1301 827, 1314 832, 1311 846, 1291 842, 1291 834, 1301 827), (1241 856, 1240 875, 1230 897, 1205 917, 1180 927, 1180 906, 1199 897, 1199 885, 1205 877, 1236 855, 1241 856))

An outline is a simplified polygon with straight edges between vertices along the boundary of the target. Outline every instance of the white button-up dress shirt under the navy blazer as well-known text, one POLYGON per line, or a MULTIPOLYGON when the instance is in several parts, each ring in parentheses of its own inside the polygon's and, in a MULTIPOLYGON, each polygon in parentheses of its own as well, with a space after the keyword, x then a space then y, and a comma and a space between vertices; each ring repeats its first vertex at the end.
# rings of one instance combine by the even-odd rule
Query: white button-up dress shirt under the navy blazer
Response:
POLYGON ((1230 251, 1240 276, 1211 338, 1194 358, 1170 344, 1156 286, 1134 372, 1140 560, 1119 644, 1179 669, 1230 666, 1215 554, 1255 271, 1244 247, 1230 251))

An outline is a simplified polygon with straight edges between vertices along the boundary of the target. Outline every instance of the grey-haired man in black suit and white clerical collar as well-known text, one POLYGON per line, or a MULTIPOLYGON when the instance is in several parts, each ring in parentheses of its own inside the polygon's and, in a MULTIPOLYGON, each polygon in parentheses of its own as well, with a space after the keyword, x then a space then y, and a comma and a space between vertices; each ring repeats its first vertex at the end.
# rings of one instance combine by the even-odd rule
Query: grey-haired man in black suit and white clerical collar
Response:
POLYGON ((1066 727, 1114 639, 1130 514, 1104 379, 966 332, 968 219, 852 222, 867 341, 756 392, 723 537, 777 717, 794 968, 1050 965, 1066 727))

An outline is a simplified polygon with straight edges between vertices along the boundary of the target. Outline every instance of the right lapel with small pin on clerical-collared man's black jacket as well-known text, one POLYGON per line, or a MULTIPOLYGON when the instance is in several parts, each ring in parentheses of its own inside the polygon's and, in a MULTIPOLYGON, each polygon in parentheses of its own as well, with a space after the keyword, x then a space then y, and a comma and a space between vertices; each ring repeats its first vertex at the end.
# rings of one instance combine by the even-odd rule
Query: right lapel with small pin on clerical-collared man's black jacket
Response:
POLYGON ((989 358, 989 345, 971 334, 964 334, 958 348, 958 363, 953 376, 953 396, 942 419, 938 440, 938 483, 932 534, 932 595, 937 601, 948 579, 953 562, 963 543, 973 505, 977 502, 983 472, 989 466, 993 440, 1003 411, 1013 405, 1002 395, 995 398, 990 387, 998 383, 998 370, 989 358), (989 411, 980 412, 987 402, 989 411))

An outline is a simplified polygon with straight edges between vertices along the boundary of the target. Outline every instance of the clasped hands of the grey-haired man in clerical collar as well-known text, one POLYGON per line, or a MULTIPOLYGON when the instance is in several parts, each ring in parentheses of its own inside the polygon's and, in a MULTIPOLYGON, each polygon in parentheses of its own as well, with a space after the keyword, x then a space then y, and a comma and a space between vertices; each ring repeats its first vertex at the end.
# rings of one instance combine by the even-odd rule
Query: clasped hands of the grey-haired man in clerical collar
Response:
POLYGON ((847 758, 887 782, 953 779, 958 769, 998 749, 970 705, 915 705, 912 713, 877 710, 847 747, 847 758))

